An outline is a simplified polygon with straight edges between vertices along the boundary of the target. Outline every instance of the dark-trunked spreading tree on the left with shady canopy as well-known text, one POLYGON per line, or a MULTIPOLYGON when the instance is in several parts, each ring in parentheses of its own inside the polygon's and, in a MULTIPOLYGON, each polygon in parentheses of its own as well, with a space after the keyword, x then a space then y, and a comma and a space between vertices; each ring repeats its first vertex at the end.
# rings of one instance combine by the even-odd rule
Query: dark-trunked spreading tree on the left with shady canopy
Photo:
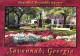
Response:
MULTIPOLYGON (((24 14, 31 15, 33 18, 35 18, 37 14, 36 11, 37 10, 35 10, 33 7, 6 7, 5 14, 7 17, 10 13, 15 13, 18 16, 18 24, 19 24, 20 19, 24 14)), ((5 23, 6 23, 6 18, 5 18, 5 23)))

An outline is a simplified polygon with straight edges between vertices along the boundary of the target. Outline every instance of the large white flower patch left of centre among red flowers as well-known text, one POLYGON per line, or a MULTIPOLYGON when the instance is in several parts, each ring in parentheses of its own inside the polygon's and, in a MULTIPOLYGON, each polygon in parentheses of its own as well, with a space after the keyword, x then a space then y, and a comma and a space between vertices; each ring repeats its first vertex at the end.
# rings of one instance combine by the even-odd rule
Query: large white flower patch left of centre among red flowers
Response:
POLYGON ((31 43, 36 43, 38 41, 41 41, 41 39, 43 40, 51 40, 53 38, 52 35, 48 35, 45 37, 42 37, 41 35, 35 35, 32 33, 17 33, 17 34, 10 34, 10 35, 5 35, 6 36, 12 36, 14 38, 13 43, 21 43, 21 42, 31 42, 31 43))

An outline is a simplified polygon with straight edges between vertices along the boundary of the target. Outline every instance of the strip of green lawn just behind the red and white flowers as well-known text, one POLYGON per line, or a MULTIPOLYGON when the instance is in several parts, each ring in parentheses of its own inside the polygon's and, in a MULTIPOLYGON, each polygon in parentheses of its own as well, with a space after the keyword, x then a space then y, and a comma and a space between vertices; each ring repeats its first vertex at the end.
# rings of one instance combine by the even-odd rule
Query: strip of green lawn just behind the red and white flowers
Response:
MULTIPOLYGON (((33 31, 32 29, 35 29, 35 28, 31 28, 30 26, 25 26, 25 28, 29 28, 29 29, 31 29, 31 31, 33 31)), ((5 30, 5 32, 26 32, 26 31, 29 31, 29 29, 8 29, 7 31, 5 30)), ((39 30, 38 29, 38 31, 45 31, 44 29, 45 28, 43 28, 43 30, 39 30)), ((54 32, 56 34, 74 35, 74 34, 76 34, 76 29, 72 29, 70 31, 65 31, 65 30, 51 30, 51 32, 54 32)))

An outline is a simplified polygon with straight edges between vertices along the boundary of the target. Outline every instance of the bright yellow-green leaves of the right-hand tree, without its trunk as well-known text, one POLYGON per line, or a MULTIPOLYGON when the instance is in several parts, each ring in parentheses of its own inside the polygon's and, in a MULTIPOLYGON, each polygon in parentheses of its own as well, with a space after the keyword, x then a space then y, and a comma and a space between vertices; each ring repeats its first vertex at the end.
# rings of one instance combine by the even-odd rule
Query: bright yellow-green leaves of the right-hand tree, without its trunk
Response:
POLYGON ((67 19, 70 17, 76 16, 75 14, 76 7, 54 7, 54 9, 52 9, 51 12, 52 11, 54 12, 54 14, 59 14, 59 15, 62 15, 62 13, 65 14, 67 19))

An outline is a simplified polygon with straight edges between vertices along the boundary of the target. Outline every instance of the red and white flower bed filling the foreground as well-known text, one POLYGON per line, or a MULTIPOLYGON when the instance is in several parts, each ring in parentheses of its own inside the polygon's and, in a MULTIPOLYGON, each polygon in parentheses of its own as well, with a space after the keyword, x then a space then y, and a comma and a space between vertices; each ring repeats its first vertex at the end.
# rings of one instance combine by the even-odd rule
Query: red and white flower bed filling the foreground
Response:
POLYGON ((76 47, 76 41, 73 41, 73 37, 70 37, 70 40, 67 41, 63 39, 63 35, 50 31, 5 32, 5 46, 76 47))

